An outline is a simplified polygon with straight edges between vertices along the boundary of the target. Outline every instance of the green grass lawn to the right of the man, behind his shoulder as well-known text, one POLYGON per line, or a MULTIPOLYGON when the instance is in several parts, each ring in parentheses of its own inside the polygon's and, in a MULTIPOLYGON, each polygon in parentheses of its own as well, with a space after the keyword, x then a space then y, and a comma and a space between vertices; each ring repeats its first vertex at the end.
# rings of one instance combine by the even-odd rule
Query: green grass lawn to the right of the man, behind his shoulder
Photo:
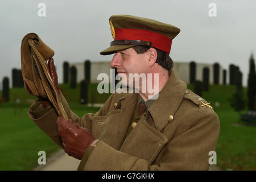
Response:
MULTIPOLYGON (((192 87, 188 85, 191 90, 192 87)), ((234 90, 235 86, 211 85, 209 92, 203 92, 203 98, 211 103, 220 119, 220 135, 216 148, 217 165, 224 170, 256 170, 256 127, 233 125, 242 124, 239 113, 229 105, 229 98, 234 90), (216 102, 220 106, 215 106, 216 102)), ((246 92, 244 88, 243 93, 246 92)))

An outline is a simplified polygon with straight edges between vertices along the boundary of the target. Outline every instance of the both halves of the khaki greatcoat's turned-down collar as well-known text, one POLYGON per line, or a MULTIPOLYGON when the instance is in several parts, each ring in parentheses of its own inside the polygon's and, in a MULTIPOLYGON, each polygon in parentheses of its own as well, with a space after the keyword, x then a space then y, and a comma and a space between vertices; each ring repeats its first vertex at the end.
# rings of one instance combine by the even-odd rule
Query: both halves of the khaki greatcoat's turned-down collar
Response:
MULTIPOLYGON (((148 109, 158 131, 161 131, 167 125, 169 115, 174 116, 186 89, 187 84, 180 80, 174 71, 171 71, 166 84, 159 92, 158 98, 148 109)), ((121 102, 121 109, 125 109, 131 104, 135 106, 135 103, 138 101, 138 93, 125 94, 119 101, 121 102)))

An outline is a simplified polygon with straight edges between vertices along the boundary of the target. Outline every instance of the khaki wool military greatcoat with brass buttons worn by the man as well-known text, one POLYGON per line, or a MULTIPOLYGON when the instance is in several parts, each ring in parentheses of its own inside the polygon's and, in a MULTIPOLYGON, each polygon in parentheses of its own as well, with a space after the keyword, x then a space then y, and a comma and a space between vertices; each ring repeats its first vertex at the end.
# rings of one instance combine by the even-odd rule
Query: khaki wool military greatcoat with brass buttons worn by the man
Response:
MULTIPOLYGON (((214 151, 220 122, 214 110, 187 89, 174 71, 159 92, 159 97, 145 111, 126 137, 138 95, 113 93, 96 113, 79 118, 61 94, 68 118, 86 127, 95 138, 96 147, 88 147, 80 170, 208 170, 209 151, 214 151), (172 117, 173 119, 171 119, 172 117)), ((43 109, 40 101, 28 110, 30 118, 51 139, 63 147, 57 132, 57 114, 43 109)))

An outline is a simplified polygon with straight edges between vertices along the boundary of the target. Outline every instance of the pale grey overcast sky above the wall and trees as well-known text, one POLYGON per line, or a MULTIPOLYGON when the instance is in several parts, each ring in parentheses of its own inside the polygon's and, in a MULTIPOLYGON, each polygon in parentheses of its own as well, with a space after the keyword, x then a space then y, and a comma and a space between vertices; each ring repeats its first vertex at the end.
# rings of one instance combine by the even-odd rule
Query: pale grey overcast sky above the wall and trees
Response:
MULTIPOLYGON (((59 82, 63 81, 64 60, 77 63, 110 61, 113 55, 100 51, 113 40, 109 17, 129 14, 159 20, 179 27, 170 56, 174 61, 233 63, 247 85, 249 57, 256 50, 256 1, 1 1, 0 82, 20 68, 20 43, 35 32, 54 51, 59 82), (46 4, 46 17, 38 16, 38 4, 46 4), (210 17, 209 3, 216 3, 217 16, 210 17)), ((11 80, 10 80, 11 81, 11 80)))

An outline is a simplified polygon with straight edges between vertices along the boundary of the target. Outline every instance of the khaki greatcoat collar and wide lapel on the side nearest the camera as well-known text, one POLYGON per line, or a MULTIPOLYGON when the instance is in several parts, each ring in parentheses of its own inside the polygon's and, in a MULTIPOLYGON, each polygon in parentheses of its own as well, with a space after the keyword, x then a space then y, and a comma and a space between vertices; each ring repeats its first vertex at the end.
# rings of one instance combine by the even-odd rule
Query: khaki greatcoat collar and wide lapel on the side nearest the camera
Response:
POLYGON ((156 156, 168 142, 167 137, 161 131, 169 123, 168 116, 175 115, 186 89, 185 82, 171 72, 166 85, 159 92, 159 97, 127 136, 120 151, 137 156, 139 159, 145 159, 150 164, 154 162, 156 156), (155 127, 147 122, 150 117, 152 117, 155 127))

